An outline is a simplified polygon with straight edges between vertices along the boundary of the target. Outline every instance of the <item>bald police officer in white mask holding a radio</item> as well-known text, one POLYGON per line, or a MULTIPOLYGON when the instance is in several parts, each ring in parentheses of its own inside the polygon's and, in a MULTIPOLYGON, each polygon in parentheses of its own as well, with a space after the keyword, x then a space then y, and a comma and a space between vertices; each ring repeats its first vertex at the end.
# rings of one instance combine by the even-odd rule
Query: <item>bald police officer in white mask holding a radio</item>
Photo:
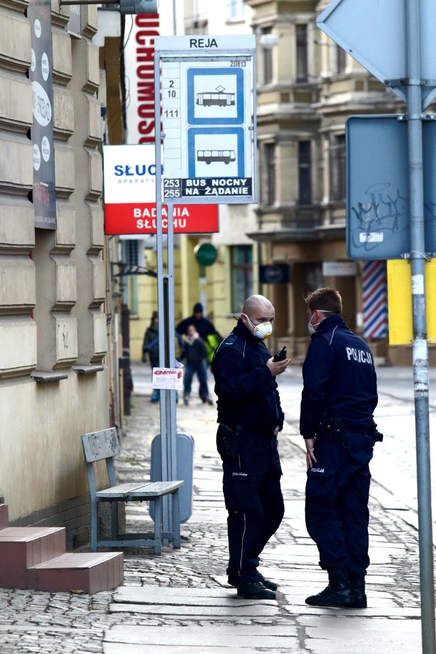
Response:
POLYGON ((260 553, 282 521, 277 434, 284 414, 275 377, 290 360, 273 361, 263 339, 271 336, 273 305, 250 296, 233 332, 212 360, 218 396, 216 444, 222 458, 229 538, 229 584, 239 597, 274 599, 277 584, 258 571, 260 553))

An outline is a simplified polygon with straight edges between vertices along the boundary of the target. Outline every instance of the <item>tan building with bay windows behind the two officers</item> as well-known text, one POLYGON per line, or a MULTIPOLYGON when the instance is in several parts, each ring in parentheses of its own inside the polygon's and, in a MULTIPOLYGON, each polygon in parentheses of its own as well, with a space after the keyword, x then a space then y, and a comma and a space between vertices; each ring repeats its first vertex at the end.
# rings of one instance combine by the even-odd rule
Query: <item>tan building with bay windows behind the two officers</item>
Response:
MULTIPOLYGON (((288 284, 268 295, 277 345, 298 360, 309 337, 304 296, 335 286, 352 330, 367 337, 362 262, 345 250, 345 123, 353 114, 397 114, 405 105, 316 27, 329 0, 246 0, 258 35, 258 224, 264 262, 288 264, 288 284)), ((380 264, 381 267, 384 264, 380 264)), ((386 276, 386 272, 384 273, 386 276)), ((384 319, 387 324, 385 296, 384 319)), ((367 330, 368 331, 368 330, 367 330)), ((369 337, 375 356, 411 363, 411 349, 369 337)))

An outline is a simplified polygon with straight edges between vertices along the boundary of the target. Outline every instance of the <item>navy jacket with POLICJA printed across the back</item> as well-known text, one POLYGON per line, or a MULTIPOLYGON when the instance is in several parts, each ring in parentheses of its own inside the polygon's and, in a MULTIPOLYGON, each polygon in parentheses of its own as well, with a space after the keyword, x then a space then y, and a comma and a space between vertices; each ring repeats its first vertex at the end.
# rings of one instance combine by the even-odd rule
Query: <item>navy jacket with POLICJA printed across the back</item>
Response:
POLYGON ((300 434, 312 438, 320 414, 342 418, 352 430, 372 427, 377 376, 365 341, 339 315, 322 320, 303 364, 300 434))

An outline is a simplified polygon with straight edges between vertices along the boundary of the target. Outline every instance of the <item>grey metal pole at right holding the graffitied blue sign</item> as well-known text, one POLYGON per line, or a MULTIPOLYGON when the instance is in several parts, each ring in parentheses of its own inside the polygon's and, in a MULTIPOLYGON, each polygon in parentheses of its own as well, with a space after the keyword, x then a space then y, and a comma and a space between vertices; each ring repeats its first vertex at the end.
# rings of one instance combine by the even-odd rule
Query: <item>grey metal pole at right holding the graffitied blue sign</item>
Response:
POLYGON ((420 1, 407 0, 407 86, 411 266, 413 310, 413 379, 416 427, 416 476, 420 549, 421 631, 423 654, 435 654, 435 591, 431 522, 429 375, 426 325, 426 254, 420 66, 420 1))

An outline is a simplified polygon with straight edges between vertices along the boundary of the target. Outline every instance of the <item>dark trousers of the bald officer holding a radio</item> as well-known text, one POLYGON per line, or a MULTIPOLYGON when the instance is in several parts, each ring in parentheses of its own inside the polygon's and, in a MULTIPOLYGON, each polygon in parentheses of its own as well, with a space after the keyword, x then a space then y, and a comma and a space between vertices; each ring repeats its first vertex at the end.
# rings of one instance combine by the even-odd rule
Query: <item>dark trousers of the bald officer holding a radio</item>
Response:
POLYGON ((259 556, 284 515, 280 458, 274 434, 244 432, 239 455, 226 456, 218 434, 229 538, 227 574, 256 580, 259 556))

